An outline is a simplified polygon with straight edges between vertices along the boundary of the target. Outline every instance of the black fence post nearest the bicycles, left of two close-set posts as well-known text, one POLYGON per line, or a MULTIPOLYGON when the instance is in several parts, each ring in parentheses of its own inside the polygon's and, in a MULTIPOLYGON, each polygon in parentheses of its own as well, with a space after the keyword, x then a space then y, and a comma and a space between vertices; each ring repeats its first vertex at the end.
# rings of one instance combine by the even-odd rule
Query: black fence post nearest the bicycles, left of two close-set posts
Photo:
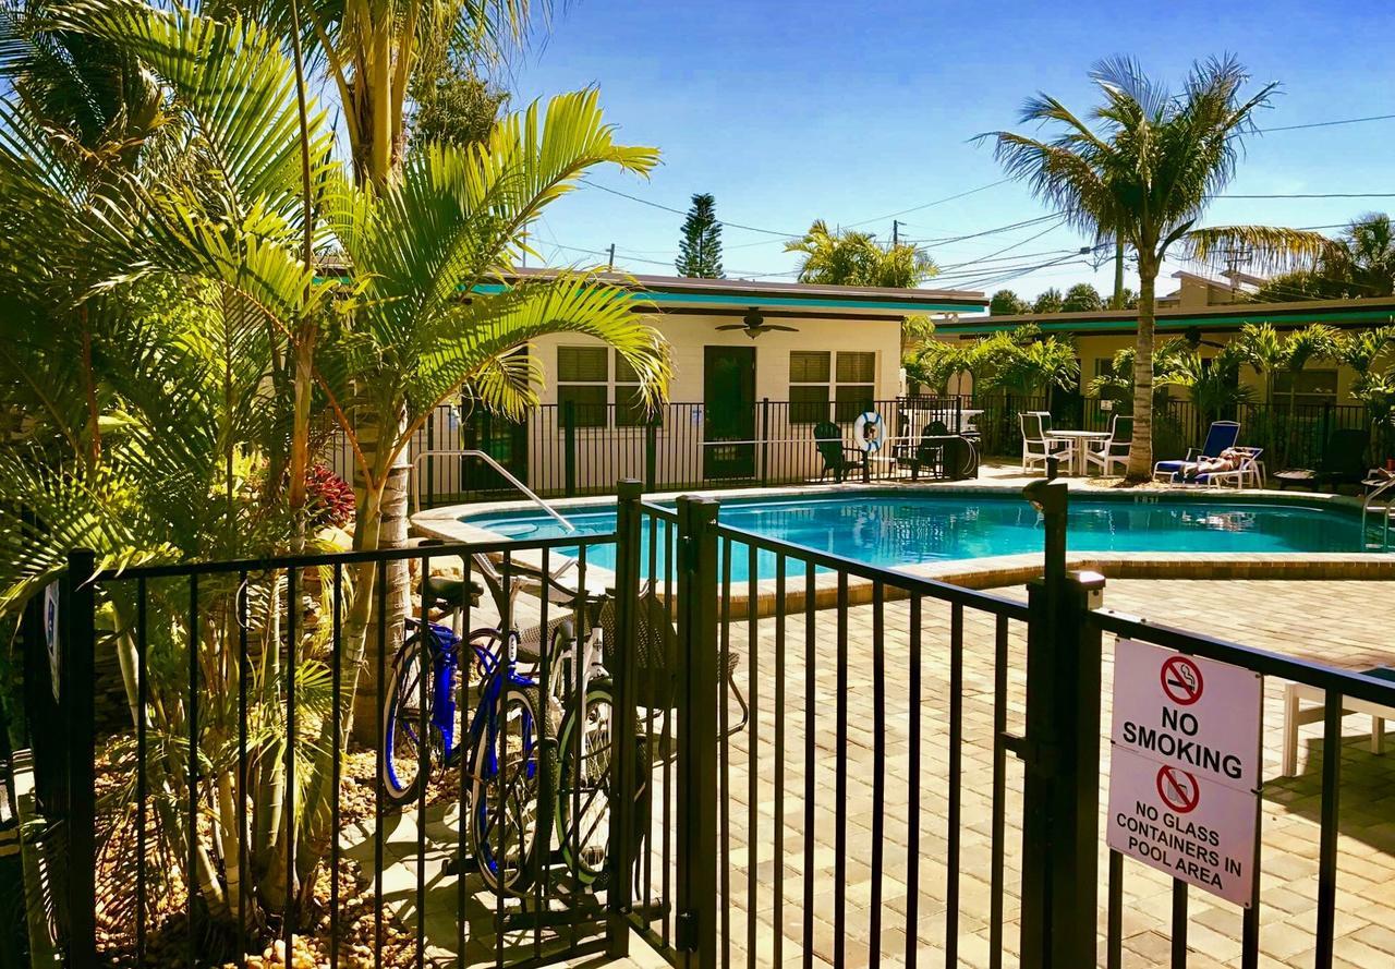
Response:
MULTIPOLYGON (((636 637, 639 630, 639 562, 640 551, 640 485, 625 478, 615 487, 615 662, 611 676, 615 683, 615 770, 611 772, 610 816, 610 887, 605 892, 605 954, 612 958, 629 955, 629 910, 633 905, 633 874, 636 834, 635 810, 639 772, 635 750, 635 669, 636 637)), ((647 771, 646 771, 647 774, 647 771)), ((649 778, 644 778, 649 784, 649 778)), ((649 818, 639 818, 647 830, 649 818)))

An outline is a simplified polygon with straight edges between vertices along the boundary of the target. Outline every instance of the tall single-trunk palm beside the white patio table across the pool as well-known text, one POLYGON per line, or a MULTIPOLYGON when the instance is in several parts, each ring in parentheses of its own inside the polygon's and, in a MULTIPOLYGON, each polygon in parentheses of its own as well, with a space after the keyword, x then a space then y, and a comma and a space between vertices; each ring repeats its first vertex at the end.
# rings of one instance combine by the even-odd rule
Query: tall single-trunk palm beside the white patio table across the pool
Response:
POLYGON ((1152 471, 1152 356, 1155 284, 1173 247, 1197 259, 1243 250, 1282 268, 1315 261, 1328 247, 1317 233, 1264 226, 1197 229, 1207 204, 1235 174, 1254 114, 1275 85, 1242 96, 1249 75, 1233 59, 1193 67, 1180 95, 1148 79, 1129 59, 1099 63, 1091 73, 1103 102, 1091 123, 1060 100, 1038 95, 1023 109, 1024 123, 1063 128, 1050 141, 1011 131, 995 141, 995 156, 1010 177, 1027 181, 1038 198, 1096 243, 1123 238, 1138 259, 1138 336, 1134 351, 1134 435, 1127 478, 1152 471))

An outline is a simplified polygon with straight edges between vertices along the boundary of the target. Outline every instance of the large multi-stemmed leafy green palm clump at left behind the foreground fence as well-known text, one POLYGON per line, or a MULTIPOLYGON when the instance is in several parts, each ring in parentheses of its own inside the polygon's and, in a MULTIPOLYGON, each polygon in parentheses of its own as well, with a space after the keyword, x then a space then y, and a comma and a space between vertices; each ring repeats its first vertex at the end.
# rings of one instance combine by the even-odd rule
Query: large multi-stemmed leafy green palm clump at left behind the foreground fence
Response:
MULTIPOLYGON (((505 410, 533 399, 538 374, 515 350, 544 333, 605 340, 649 393, 663 389, 663 346, 633 312, 643 304, 631 290, 586 272, 494 286, 509 280, 522 226, 583 171, 601 163, 643 171, 654 163, 653 149, 614 142, 594 91, 506 119, 483 151, 431 148, 392 184, 357 187, 332 158, 324 113, 314 105, 303 110, 294 66, 272 33, 250 21, 135 4, 92 4, 68 17, 66 29, 119 45, 140 61, 170 106, 162 130, 180 132, 181 151, 149 169, 102 165, 22 103, 0 100, 0 259, 13 269, 0 279, 0 305, 10 311, 0 325, 17 337, 3 349, 4 363, 17 375, 32 368, 35 378, 6 382, 3 403, 35 406, 40 415, 28 425, 24 450, 0 455, 0 492, 27 495, 42 523, 0 506, 0 606, 13 608, 52 579, 74 547, 96 548, 109 567, 286 551, 299 528, 285 474, 265 457, 290 450, 297 395, 286 378, 297 360, 308 360, 314 407, 349 436, 372 510, 382 508, 388 470, 412 429, 437 402, 462 386, 505 410), (306 220, 307 199, 318 201, 324 223, 306 220), (303 250, 307 230, 332 233, 345 247, 347 280, 314 277, 303 250), (33 259, 36 251, 46 258, 33 259), (145 296, 152 291, 158 298, 145 296), (472 297, 459 298, 462 291, 472 297), (53 319, 63 325, 39 325, 53 319), (301 357, 294 351, 306 321, 319 339, 314 354, 301 357), (374 427, 389 432, 367 460, 360 434, 374 427)), ((146 139, 142 156, 153 148, 146 139)), ((359 547, 374 547, 378 521, 378 514, 360 519, 359 547)), ((357 574, 350 590, 346 697, 361 666, 372 572, 357 574)), ((198 630, 206 657, 236 654, 237 590, 201 587, 202 595, 212 597, 198 630)), ((190 830, 177 810, 160 827, 173 856, 197 849, 195 891, 225 924, 234 920, 229 899, 244 871, 236 804, 257 804, 248 844, 254 924, 262 909, 310 898, 332 834, 328 785, 345 736, 332 735, 326 712, 322 644, 306 641, 292 653, 300 661, 279 665, 279 616, 293 608, 285 598, 285 580, 275 576, 255 590, 257 654, 268 659, 251 685, 265 708, 250 724, 247 786, 227 758, 236 664, 213 671, 205 664, 201 753, 211 767, 199 796, 213 832, 190 830), (306 763, 296 775, 306 786, 294 816, 282 810, 275 753, 287 678, 306 714, 297 715, 297 757, 306 763), (292 848, 297 866, 287 880, 292 848)), ((119 657, 134 683, 134 604, 112 606, 119 657)), ((152 615, 159 616, 152 648, 166 655, 186 648, 179 644, 194 632, 181 626, 187 612, 152 590, 152 615)), ((179 803, 186 758, 173 754, 177 738, 187 736, 179 700, 187 693, 177 682, 149 687, 152 703, 142 710, 128 686, 133 719, 148 722, 156 738, 152 791, 179 803)), ((350 721, 346 710, 345 732, 350 721)))

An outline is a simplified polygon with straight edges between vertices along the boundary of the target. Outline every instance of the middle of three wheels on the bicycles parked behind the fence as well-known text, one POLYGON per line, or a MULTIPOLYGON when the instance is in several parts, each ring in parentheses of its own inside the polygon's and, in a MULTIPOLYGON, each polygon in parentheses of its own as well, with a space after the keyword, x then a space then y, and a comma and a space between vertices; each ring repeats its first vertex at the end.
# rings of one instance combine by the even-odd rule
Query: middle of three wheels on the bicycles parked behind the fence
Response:
MULTIPOLYGON (((551 809, 543 782, 555 758, 541 743, 541 710, 536 686, 509 683, 476 740, 467 831, 480 876, 494 892, 527 891, 540 848, 547 852, 551 809)), ((555 731, 547 736, 548 746, 555 743, 555 731)))

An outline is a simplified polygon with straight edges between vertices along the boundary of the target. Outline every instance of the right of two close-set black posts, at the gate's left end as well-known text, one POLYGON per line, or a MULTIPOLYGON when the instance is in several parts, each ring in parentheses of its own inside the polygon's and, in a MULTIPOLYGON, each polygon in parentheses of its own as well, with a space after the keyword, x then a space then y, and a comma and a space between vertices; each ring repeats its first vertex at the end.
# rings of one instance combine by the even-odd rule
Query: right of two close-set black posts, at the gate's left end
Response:
POLYGON ((678 499, 678 965, 717 965, 717 502, 678 499))

